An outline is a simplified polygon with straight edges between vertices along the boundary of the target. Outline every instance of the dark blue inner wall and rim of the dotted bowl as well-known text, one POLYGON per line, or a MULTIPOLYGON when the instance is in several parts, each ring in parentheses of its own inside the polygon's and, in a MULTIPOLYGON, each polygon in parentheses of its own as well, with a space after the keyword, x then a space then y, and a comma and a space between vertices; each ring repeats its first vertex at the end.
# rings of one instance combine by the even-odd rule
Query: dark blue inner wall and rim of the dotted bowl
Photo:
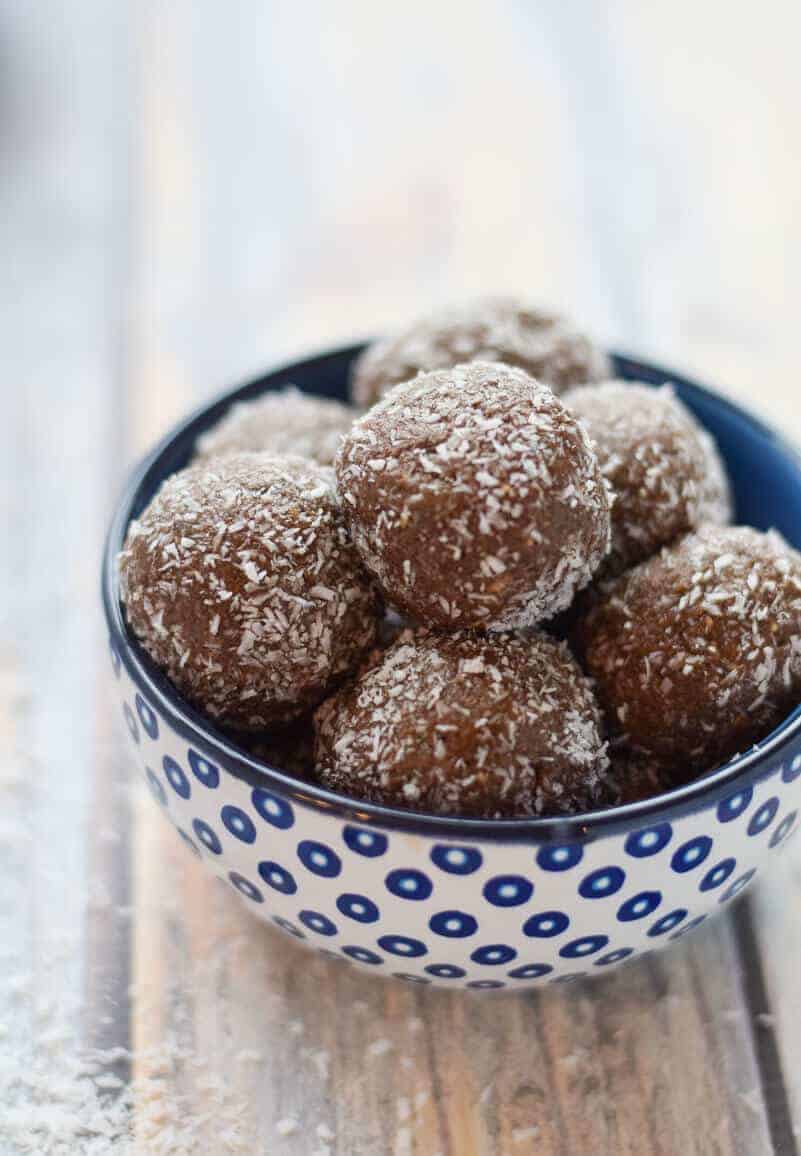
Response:
MULTIPOLYGON (((251 400, 269 390, 289 384, 309 393, 344 400, 348 395, 349 368, 362 348, 363 346, 351 346, 322 354, 228 391, 216 401, 187 417, 156 446, 134 473, 120 501, 109 533, 104 560, 103 594, 106 616, 112 637, 118 636, 117 645, 121 644, 126 661, 135 667, 136 676, 148 683, 155 699, 163 704, 178 727, 188 729, 217 748, 227 750, 229 765, 232 757, 238 768, 237 773, 243 777, 249 779, 261 775, 273 777, 290 794, 303 793, 307 801, 316 801, 321 807, 336 806, 349 813, 358 812, 363 822, 374 815, 380 821, 390 821, 401 827, 422 824, 451 828, 454 831, 458 829, 462 833, 484 828, 487 833, 492 829, 500 838, 513 837, 513 832, 521 828, 532 835, 536 829, 546 838, 552 837, 554 831, 558 835, 566 828, 577 828, 574 832, 577 836, 588 837, 596 828, 630 825, 655 812, 668 814, 688 807, 692 809, 699 805, 702 796, 706 800, 710 795, 722 794, 734 779, 759 777, 764 770, 764 756, 772 755, 777 747, 794 738, 801 727, 801 706, 796 707, 773 735, 759 744, 758 749, 739 756, 712 775, 653 800, 593 815, 576 816, 572 820, 559 817, 468 821, 452 816, 420 816, 410 812, 395 812, 392 808, 348 800, 322 788, 301 784, 280 769, 259 764, 244 751, 231 747, 231 743, 208 720, 183 703, 166 679, 155 669, 141 651, 129 633, 121 612, 114 558, 121 548, 128 523, 144 509, 164 479, 190 461, 196 438, 214 425, 233 402, 251 400)), ((613 364, 615 375, 626 380, 645 381, 651 385, 672 383, 682 401, 718 443, 734 489, 735 520, 759 529, 774 527, 793 546, 801 549, 801 457, 788 443, 743 409, 687 378, 623 355, 614 355, 613 364)))

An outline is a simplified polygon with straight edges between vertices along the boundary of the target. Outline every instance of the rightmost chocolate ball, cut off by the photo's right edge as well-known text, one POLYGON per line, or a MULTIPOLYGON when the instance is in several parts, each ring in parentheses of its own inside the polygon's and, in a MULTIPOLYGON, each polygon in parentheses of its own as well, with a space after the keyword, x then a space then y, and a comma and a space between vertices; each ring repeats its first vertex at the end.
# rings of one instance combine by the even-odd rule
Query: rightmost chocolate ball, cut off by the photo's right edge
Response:
POLYGON ((662 764, 712 770, 801 696, 801 555, 705 526, 611 583, 580 624, 611 727, 662 764))

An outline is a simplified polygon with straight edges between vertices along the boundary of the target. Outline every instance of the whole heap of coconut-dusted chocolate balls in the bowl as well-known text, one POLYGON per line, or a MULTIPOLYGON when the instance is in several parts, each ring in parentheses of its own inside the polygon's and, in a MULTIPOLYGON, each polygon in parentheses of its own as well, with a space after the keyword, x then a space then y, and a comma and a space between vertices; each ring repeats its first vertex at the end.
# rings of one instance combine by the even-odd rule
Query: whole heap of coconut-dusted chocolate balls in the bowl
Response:
POLYGON ((468 816, 646 798, 801 692, 801 555, 732 527, 668 386, 483 301, 354 364, 353 408, 233 406, 131 524, 128 622, 249 751, 468 816), (333 468, 332 468, 333 466, 333 468))

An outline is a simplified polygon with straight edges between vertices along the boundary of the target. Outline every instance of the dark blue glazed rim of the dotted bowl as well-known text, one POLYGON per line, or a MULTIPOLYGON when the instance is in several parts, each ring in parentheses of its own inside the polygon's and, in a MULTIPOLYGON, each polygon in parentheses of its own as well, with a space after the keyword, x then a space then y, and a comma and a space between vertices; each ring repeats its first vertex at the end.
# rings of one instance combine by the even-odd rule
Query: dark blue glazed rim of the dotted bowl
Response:
MULTIPOLYGON (((777 756, 791 747, 801 733, 801 704, 762 743, 755 744, 714 771, 684 786, 650 799, 565 816, 466 818, 458 815, 433 815, 365 802, 329 791, 318 784, 304 781, 249 755, 181 698, 133 636, 119 599, 116 560, 141 490, 146 483, 158 482, 169 476, 172 473, 169 468, 170 459, 179 457, 183 447, 194 443, 195 438, 222 416, 232 402, 243 397, 258 397, 261 392, 267 392, 280 384, 289 384, 294 376, 301 377, 309 369, 322 368, 333 360, 348 363, 364 347, 364 342, 358 342, 329 349, 303 361, 279 365, 257 378, 250 378, 238 386, 223 390, 175 424, 128 473, 114 506, 103 550, 102 598, 112 653, 125 665, 136 688, 147 695, 148 704, 153 705, 184 739, 221 757, 225 771, 244 779, 253 787, 272 788, 281 796, 318 810, 335 813, 340 818, 355 823, 437 837, 534 844, 589 842, 600 836, 636 830, 697 812, 726 798, 732 790, 736 792, 737 788, 773 776, 779 769, 777 756)), ((758 430, 777 451, 794 461, 801 474, 801 452, 741 406, 683 375, 665 370, 652 362, 614 351, 611 358, 615 375, 624 372, 629 380, 641 380, 654 385, 674 383, 681 385, 684 392, 696 394, 707 403, 728 410, 741 422, 758 430)))

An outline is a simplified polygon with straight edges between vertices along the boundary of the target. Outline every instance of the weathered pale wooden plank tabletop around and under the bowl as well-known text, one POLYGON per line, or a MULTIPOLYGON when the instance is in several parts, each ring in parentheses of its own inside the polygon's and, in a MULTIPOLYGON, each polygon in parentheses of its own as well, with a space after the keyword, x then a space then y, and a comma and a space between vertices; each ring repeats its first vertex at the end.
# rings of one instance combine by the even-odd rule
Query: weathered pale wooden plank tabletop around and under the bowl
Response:
POLYGON ((3 1156, 798 1153, 801 849, 592 985, 365 979, 128 779, 97 598, 171 422, 433 302, 569 307, 801 435, 801 7, 746 12, 1 0, 3 1156))

